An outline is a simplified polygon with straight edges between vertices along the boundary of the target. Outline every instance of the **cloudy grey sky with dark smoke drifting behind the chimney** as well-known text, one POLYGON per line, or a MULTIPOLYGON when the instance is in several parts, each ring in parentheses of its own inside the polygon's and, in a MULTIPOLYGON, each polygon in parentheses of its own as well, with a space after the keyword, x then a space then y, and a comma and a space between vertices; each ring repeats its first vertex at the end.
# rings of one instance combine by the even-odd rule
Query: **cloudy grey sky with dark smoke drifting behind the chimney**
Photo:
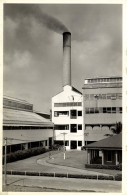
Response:
POLYGON ((49 113, 51 97, 62 91, 62 32, 67 29, 75 88, 82 91, 88 77, 121 76, 121 26, 121 5, 5 4, 4 95, 49 113))

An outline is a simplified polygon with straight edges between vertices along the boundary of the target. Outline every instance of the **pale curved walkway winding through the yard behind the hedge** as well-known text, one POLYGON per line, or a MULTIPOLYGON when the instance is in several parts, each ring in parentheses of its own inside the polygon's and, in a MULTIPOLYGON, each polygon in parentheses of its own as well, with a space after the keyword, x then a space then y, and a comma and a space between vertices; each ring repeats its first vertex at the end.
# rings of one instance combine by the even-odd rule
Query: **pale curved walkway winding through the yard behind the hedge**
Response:
MULTIPOLYGON (((57 154, 52 155, 52 159, 55 158, 57 154)), ((59 168, 59 169, 64 169, 66 172, 78 172, 78 173, 82 173, 82 174, 87 174, 87 175, 109 175, 109 174, 104 174, 104 173, 98 173, 95 171, 89 171, 89 170, 83 170, 83 169, 78 169, 78 168, 73 168, 73 167, 68 167, 68 166, 62 166, 62 165, 55 165, 55 164, 51 164, 48 163, 47 160, 49 159, 49 157, 45 157, 43 159, 38 159, 37 163, 43 166, 48 166, 48 167, 53 167, 53 168, 59 168)))

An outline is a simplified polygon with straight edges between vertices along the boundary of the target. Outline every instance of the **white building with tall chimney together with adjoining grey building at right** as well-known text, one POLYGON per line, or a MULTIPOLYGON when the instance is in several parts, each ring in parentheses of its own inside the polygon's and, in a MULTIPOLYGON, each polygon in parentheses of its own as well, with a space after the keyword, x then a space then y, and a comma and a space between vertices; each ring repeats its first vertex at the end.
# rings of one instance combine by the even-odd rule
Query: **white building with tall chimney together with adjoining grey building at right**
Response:
POLYGON ((83 93, 71 85, 71 33, 63 33, 63 91, 52 97, 54 142, 67 150, 104 139, 122 122, 122 77, 85 79, 83 93))

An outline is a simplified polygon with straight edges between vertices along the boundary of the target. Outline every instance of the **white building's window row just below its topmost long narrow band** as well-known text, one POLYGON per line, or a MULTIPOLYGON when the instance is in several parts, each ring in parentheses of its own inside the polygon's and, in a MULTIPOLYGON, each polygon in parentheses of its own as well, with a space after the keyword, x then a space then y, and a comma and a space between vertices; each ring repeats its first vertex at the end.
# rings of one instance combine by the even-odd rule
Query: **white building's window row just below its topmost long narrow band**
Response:
MULTIPOLYGON (((54 111, 54 116, 69 116, 69 111, 54 111)), ((70 118, 76 118, 77 116, 82 116, 81 110, 70 110, 70 118)))

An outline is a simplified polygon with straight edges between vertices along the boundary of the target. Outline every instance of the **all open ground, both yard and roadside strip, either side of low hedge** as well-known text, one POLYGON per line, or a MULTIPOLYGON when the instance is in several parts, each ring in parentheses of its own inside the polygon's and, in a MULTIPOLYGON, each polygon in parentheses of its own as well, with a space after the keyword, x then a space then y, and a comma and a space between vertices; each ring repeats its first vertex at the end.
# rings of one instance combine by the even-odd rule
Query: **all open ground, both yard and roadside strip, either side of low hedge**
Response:
MULTIPOLYGON (((38 171, 71 174, 108 174, 121 173, 116 170, 86 169, 86 151, 52 151, 7 164, 7 170, 38 171)), ((75 178, 36 177, 7 175, 7 186, 3 191, 23 192, 121 192, 120 181, 102 181, 75 178), (107 188, 108 185, 108 188, 107 188)))

